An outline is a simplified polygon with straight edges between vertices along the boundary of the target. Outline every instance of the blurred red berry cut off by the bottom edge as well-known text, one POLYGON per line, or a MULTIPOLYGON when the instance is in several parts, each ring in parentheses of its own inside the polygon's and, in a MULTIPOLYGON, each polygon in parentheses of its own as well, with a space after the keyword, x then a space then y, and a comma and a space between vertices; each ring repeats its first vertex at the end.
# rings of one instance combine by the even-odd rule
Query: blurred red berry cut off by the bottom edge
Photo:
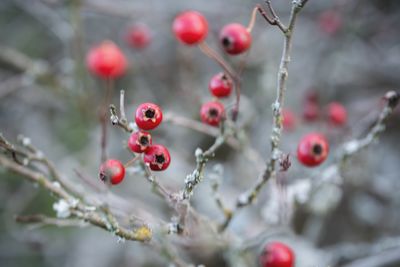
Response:
POLYGON ((262 267, 293 267, 294 262, 293 250, 281 242, 267 244, 260 256, 262 267))

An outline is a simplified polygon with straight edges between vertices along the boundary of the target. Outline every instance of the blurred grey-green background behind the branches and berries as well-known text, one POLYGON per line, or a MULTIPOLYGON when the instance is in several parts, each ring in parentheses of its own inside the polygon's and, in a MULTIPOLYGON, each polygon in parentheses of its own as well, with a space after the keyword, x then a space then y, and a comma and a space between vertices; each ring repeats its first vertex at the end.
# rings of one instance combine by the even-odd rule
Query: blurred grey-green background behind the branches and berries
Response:
MULTIPOLYGON (((170 114, 199 120, 201 104, 211 99, 208 81, 220 69, 198 48, 183 46, 174 38, 173 18, 187 9, 202 12, 210 25, 207 42, 223 54, 218 43, 219 30, 230 22, 247 25, 255 4, 263 3, 0 1, 0 132, 9 140, 16 140, 19 134, 30 137, 71 181, 78 181, 73 170, 79 169, 94 183, 100 182, 98 112, 106 84, 86 68, 89 49, 103 40, 112 40, 128 58, 129 69, 116 80, 112 101, 117 104, 118 91, 126 90, 128 119, 133 120, 138 104, 150 101, 170 114), (151 40, 144 48, 126 42, 127 31, 135 24, 148 27, 151 40)), ((273 0, 272 4, 286 22, 291 1, 273 0)), ((318 130, 327 134, 331 156, 312 170, 293 159, 289 172, 279 176, 278 182, 270 182, 255 207, 240 212, 229 231, 251 239, 265 229, 274 233, 278 226, 287 225, 292 234, 268 235, 260 245, 269 238, 292 244, 296 266, 344 266, 376 255, 392 260, 354 266, 400 266, 400 238, 396 238, 400 235, 399 109, 380 142, 352 159, 342 173, 342 184, 324 186, 307 203, 298 203, 293 216, 286 216, 292 210, 282 206, 286 185, 321 175, 334 160, 335 148, 340 143, 368 130, 379 114, 384 93, 398 90, 399 24, 400 2, 396 0, 309 1, 296 25, 289 67, 286 106, 294 113, 296 125, 284 132, 282 148, 293 154, 303 134, 318 130), (343 104, 348 111, 347 125, 332 127, 323 115, 313 122, 304 120, 304 99, 310 92, 318 94, 321 114, 332 101, 343 104), (274 194, 283 200, 270 201, 274 194), (389 249, 382 252, 380 247, 389 249)), ((224 146, 208 165, 209 174, 220 166, 217 164, 223 165, 221 195, 228 206, 255 181, 260 172, 259 162, 269 156, 270 107, 275 99, 282 42, 279 30, 257 17, 249 55, 225 55, 236 67, 243 60, 246 62, 239 124, 248 133, 243 142, 259 154, 256 162, 250 162, 241 151, 224 146)), ((226 101, 228 105, 232 102, 233 97, 226 101)), ((172 155, 170 168, 160 173, 159 180, 177 190, 194 168, 195 149, 207 148, 213 139, 169 123, 162 124, 154 135, 159 143, 168 146, 172 155)), ((127 138, 120 129, 109 127, 109 155, 129 160, 130 154, 124 149, 127 138)), ((93 227, 17 224, 18 214, 54 216, 54 199, 2 168, 0 177, 0 266, 167 266, 163 257, 149 247, 118 242, 116 237, 93 227)), ((151 194, 144 179, 131 174, 124 182, 124 186, 112 189, 114 193, 140 199, 154 213, 169 220, 171 212, 151 194)), ((194 195, 193 206, 222 221, 210 188, 210 181, 205 179, 194 195)), ((260 249, 254 247, 248 257, 256 258, 260 249)), ((218 255, 183 253, 197 264, 229 266, 218 255)), ((250 260, 248 266, 257 266, 256 260, 250 260)))

